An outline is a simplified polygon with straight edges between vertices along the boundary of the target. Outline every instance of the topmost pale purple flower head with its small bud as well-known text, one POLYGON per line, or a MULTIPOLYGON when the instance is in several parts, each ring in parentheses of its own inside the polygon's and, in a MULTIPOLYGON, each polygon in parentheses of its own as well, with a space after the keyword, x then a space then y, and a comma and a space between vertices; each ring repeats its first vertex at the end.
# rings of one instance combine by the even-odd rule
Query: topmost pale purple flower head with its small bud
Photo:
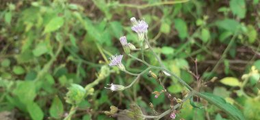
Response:
POLYGON ((144 41, 144 33, 147 33, 148 24, 144 20, 136 21, 135 18, 131 18, 133 27, 131 29, 138 33, 138 39, 140 42, 144 41))

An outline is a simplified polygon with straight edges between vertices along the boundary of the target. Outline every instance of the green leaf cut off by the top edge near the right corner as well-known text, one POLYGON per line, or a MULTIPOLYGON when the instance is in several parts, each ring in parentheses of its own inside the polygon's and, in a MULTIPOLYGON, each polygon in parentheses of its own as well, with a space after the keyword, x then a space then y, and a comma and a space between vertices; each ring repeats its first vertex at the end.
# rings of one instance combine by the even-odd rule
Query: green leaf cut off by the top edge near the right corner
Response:
POLYGON ((246 16, 246 3, 244 0, 231 0, 229 4, 233 14, 237 15, 239 18, 244 18, 246 16))

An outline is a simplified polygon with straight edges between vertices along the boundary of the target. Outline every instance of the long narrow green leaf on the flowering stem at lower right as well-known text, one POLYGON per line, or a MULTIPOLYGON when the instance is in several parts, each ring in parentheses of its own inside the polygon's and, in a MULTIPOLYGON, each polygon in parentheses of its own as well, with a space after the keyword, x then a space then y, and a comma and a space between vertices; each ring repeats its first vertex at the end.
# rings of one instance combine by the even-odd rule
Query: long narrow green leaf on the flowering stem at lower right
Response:
POLYGON ((239 109, 229 103, 226 103, 226 100, 224 100, 222 97, 213 95, 211 93, 199 93, 199 97, 202 97, 221 110, 224 110, 224 112, 226 112, 228 115, 231 115, 231 117, 235 120, 245 119, 243 113, 239 109))

